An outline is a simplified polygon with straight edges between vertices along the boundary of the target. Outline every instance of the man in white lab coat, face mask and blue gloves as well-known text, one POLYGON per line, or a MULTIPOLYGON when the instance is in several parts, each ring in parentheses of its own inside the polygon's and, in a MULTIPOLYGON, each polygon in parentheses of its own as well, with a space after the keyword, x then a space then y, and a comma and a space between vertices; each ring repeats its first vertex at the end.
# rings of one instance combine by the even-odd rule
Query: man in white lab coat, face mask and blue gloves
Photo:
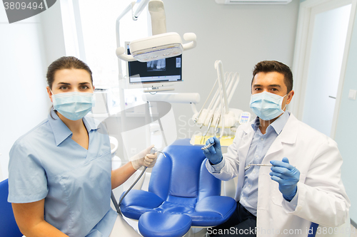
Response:
POLYGON ((238 127, 226 154, 216 137, 206 142, 215 143, 203 150, 208 171, 225 181, 238 176, 236 211, 208 228, 210 236, 308 236, 311 223, 335 227, 347 221, 350 201, 337 144, 286 111, 292 88, 287 65, 258 63, 250 102, 258 117, 238 127))

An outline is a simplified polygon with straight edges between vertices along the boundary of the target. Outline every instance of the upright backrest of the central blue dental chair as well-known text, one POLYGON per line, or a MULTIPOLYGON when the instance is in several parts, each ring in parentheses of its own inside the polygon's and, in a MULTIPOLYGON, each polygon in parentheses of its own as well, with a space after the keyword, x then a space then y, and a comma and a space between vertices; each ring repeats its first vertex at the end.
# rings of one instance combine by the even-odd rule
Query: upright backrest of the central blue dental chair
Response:
POLYGON ((166 201, 196 204, 206 196, 221 194, 221 180, 206 169, 201 147, 189 139, 177 140, 159 155, 151 172, 149 191, 166 201))

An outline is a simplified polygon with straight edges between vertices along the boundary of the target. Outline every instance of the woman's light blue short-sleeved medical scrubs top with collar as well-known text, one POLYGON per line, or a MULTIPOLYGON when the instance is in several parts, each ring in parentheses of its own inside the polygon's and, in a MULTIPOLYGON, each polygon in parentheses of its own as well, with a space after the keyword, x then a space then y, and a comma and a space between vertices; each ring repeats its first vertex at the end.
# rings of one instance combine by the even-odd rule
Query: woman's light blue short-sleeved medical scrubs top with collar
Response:
POLYGON ((68 236, 107 237, 117 216, 110 206, 109 136, 93 119, 84 117, 83 122, 88 150, 71 139, 71 130, 53 110, 15 142, 10 151, 8 201, 44 199, 45 220, 68 236))

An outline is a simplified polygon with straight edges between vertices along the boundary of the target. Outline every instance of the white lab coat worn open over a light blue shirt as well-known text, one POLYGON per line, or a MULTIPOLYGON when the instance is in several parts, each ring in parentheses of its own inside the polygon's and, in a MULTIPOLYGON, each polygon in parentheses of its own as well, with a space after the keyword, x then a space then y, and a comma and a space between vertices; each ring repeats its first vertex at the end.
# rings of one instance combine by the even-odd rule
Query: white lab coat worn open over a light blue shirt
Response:
MULTIPOLYGON (((254 120, 253 120, 254 121, 254 120)), ((206 167, 215 177, 229 180, 238 176, 236 201, 240 199, 246 156, 253 139, 251 123, 238 127, 233 144, 223 154, 224 167, 219 173, 209 162, 206 167), (242 164, 242 165, 239 165, 242 164)), ((300 171, 297 206, 283 199, 278 183, 271 180, 271 169, 259 169, 257 236, 308 236, 311 221, 322 226, 340 226, 351 206, 341 181, 342 158, 330 137, 300 122, 292 114, 281 134, 266 152, 262 164, 289 159, 300 171)))

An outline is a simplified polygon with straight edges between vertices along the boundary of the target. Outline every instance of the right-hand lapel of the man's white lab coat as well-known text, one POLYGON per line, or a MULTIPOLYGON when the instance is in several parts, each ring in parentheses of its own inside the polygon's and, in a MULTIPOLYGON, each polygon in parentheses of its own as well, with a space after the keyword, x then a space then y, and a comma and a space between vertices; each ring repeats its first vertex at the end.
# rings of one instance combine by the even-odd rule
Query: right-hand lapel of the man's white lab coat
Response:
MULTIPOLYGON (((296 137, 298 135, 298 120, 296 119, 293 114, 290 115, 288 118, 288 121, 286 122, 286 125, 283 127, 283 130, 281 131, 280 135, 276 137, 275 141, 273 144, 271 144, 271 147, 268 149, 268 152, 266 152, 266 156, 264 158, 264 161, 266 162, 269 161, 268 157, 271 154, 274 154, 276 152, 281 151, 283 149, 283 144, 294 144, 296 142, 296 137)), ((268 164, 266 162, 263 162, 263 164, 268 164)))

